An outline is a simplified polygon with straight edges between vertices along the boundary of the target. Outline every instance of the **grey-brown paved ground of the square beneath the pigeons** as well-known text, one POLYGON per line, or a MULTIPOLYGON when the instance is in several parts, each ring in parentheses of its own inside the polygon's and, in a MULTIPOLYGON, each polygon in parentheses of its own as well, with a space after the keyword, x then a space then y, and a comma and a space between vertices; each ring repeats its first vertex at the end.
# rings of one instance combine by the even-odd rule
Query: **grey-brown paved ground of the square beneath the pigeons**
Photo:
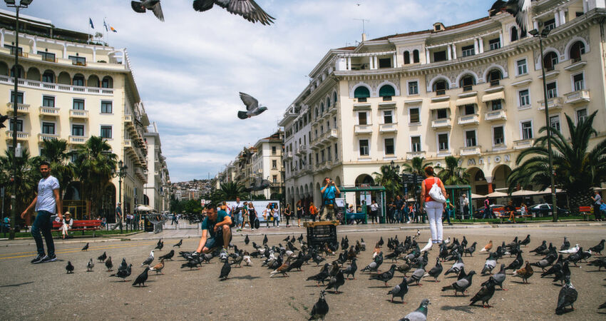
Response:
MULTIPOLYGON (((374 225, 368 228, 380 229, 389 225, 374 225)), ((426 225, 425 225, 426 226, 426 225)), ((553 242, 558 248, 567 236, 572 246, 579 244, 583 248, 597 245, 605 238, 604 227, 601 225, 585 225, 580 227, 549 227, 549 228, 451 228, 445 229, 445 238, 460 238, 466 236, 469 245, 478 242, 473 258, 463 258, 466 271, 482 270, 486 260, 486 252, 478 253, 488 240, 493 240, 495 248, 503 241, 510 243, 515 236, 520 240, 530 234, 531 243, 523 248, 523 258, 536 262, 540 256, 528 255, 528 251, 540 245, 542 240, 553 242)), ((345 235, 349 244, 354 245, 355 240, 364 238, 366 252, 359 255, 358 266, 361 270, 371 262, 374 243, 383 237, 398 235, 404 240, 406 235, 413 235, 416 230, 385 230, 361 231, 349 230, 349 226, 339 227, 339 240, 345 235), (345 232, 348 230, 349 232, 345 232)), ((183 230, 184 233, 186 230, 183 230)), ((197 230, 187 230, 188 233, 197 233, 197 230)), ((292 232, 299 235, 304 230, 297 229, 270 229, 268 233, 269 245, 282 243, 284 235, 277 232, 292 232)), ((169 233, 166 230, 164 233, 169 233)), ((265 230, 260 230, 265 232, 265 230)), ((174 231, 173 231, 174 233, 174 231)), ((421 248, 428 239, 428 230, 421 230, 418 239, 421 248)), ((183 234, 185 235, 185 234, 183 234)), ((2 310, 6 320, 56 320, 73 318, 80 320, 125 320, 125 319, 201 319, 212 320, 304 320, 309 317, 309 311, 319 297, 322 287, 316 287, 314 281, 305 279, 319 272, 314 263, 303 265, 302 272, 289 272, 289 277, 269 278, 270 270, 261 267, 260 259, 252 259, 252 267, 233 267, 230 277, 219 281, 221 263, 214 258, 210 264, 204 264, 200 270, 180 269, 182 258, 175 255, 174 261, 166 262, 164 275, 155 275, 150 272, 147 287, 133 287, 130 284, 136 275, 143 271, 140 267, 150 250, 155 247, 157 240, 152 239, 158 235, 141 233, 133 235, 139 240, 104 240, 83 239, 57 242, 58 262, 31 265, 29 261, 34 258, 35 246, 23 240, 11 241, 11 245, 0 243, 0 293, 2 310), (91 241, 88 252, 81 248, 91 241), (106 251, 117 267, 126 258, 133 263, 133 275, 127 278, 130 282, 121 282, 120 279, 109 277, 105 265, 95 260, 106 251), (86 272, 86 263, 93 258, 96 266, 93 272, 86 272), (75 265, 73 275, 67 275, 65 266, 67 261, 75 265)), ((175 235, 178 236, 178 235, 175 235)), ((192 235, 193 236, 193 235, 192 235)), ((239 248, 252 250, 252 243, 244 245, 243 235, 235 235, 233 243, 239 248)), ((255 233, 251 241, 262 243, 262 235, 255 233)), ((3 241, 9 242, 9 241, 3 241)), ((178 239, 165 239, 165 247, 156 252, 156 260, 160 255, 168 253, 178 239)), ((182 250, 194 250, 197 238, 185 238, 182 250)), ((299 244, 297 243, 298 247, 299 244)), ((390 251, 384 245, 384 254, 390 251)), ((177 250, 178 252, 178 250, 177 250)), ((606 254, 606 251, 605 251, 606 254)), ((434 245, 430 252, 426 270, 435 265, 438 248, 434 245)), ((334 258, 327 258, 331 262, 334 258)), ((508 265, 513 258, 505 255, 500 263, 508 265)), ((311 262, 311 261, 310 261, 311 262)), ((348 265, 349 263, 346 263, 348 265)), ((390 260, 385 260, 381 271, 389 269, 390 260)), ((452 263, 443 263, 444 271, 452 263)), ((535 267, 535 275, 530 277, 530 285, 523 285, 521 279, 507 276, 504 287, 508 291, 497 290, 491 309, 481 306, 468 306, 470 297, 454 297, 453 291, 441 292, 441 287, 450 285, 456 280, 453 275, 438 278, 441 282, 431 282, 433 278, 423 280, 423 286, 411 286, 404 297, 404 305, 391 303, 391 295, 387 292, 401 281, 401 273, 388 282, 384 287, 378 280, 369 280, 366 273, 356 272, 356 280, 346 280, 339 288, 341 294, 327 293, 327 302, 330 310, 328 320, 398 320, 407 313, 415 310, 423 298, 431 300, 428 308, 429 320, 603 320, 605 315, 598 312, 597 307, 606 300, 606 270, 597 272, 597 268, 581 264, 581 267, 570 267, 572 270, 572 284, 577 288, 579 297, 575 303, 575 311, 563 316, 555 315, 558 285, 554 285, 549 278, 540 278, 540 268, 535 267)), ((410 275, 410 274, 409 274, 410 275)), ((468 295, 473 296, 481 287, 481 282, 487 276, 476 275, 468 295)), ((396 299, 398 301, 398 299, 396 299)), ((602 310, 603 311, 603 310, 602 310)))

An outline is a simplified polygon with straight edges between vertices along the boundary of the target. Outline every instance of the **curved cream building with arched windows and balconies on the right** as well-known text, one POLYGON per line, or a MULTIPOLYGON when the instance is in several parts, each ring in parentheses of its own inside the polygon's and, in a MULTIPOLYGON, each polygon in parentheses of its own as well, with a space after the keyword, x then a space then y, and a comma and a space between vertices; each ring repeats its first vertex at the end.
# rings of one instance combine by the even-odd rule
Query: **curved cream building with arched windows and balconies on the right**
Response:
POLYGON ((373 183, 381 165, 416 156, 434 165, 460 157, 473 193, 504 188, 545 126, 542 65, 550 125, 568 135, 565 116, 598 111, 594 139, 603 139, 605 18, 601 0, 532 1, 528 29, 550 29, 544 60, 506 12, 330 50, 279 123, 287 201, 318 203, 326 176, 373 183))

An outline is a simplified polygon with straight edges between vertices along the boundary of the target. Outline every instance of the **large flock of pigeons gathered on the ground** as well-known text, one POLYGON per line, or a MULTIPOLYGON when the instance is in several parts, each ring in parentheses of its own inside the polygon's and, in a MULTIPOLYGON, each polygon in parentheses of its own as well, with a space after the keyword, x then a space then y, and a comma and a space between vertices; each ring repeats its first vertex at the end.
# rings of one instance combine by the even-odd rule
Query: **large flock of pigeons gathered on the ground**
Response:
MULTIPOLYGON (((532 282, 545 282, 541 279, 553 279, 553 283, 560 289, 557 297, 556 292, 553 292, 554 300, 557 299, 555 300, 555 313, 560 315, 574 310, 575 301, 578 299, 578 292, 572 280, 575 279, 575 274, 580 272, 572 273, 571 267, 586 263, 588 266, 596 267, 596 271, 601 271, 602 267, 606 269, 606 257, 601 255, 606 240, 601 240, 587 251, 578 244, 571 247, 568 238, 564 239, 559 248, 553 243, 548 245, 543 240, 537 248, 532 250, 528 250, 530 235, 523 240, 518 240, 516 237, 509 244, 503 242, 494 250, 493 241, 490 240, 480 251, 487 254, 484 265, 466 266, 463 258, 466 255, 473 256, 476 242, 468 246, 468 240, 463 236, 462 240, 453 238, 450 241, 448 238, 443 244, 432 247, 431 240, 429 240, 428 244, 423 245, 421 249, 415 240, 415 238, 418 239, 418 235, 414 236, 406 236, 404 241, 399 240, 398 235, 394 235, 394 238, 386 238, 386 241, 381 236, 379 242, 374 245, 372 253, 365 254, 364 238, 354 240, 350 244, 347 235, 341 238, 340 243, 324 243, 317 246, 309 246, 303 235, 299 235, 298 238, 288 235, 277 245, 269 245, 267 235, 264 235, 260 244, 246 235, 244 243, 247 249, 238 248, 235 244, 230 245, 230 254, 227 255, 219 250, 201 255, 195 255, 190 251, 180 251, 178 257, 183 261, 179 263, 180 265, 170 266, 168 264, 168 269, 174 271, 180 266, 180 269, 185 270, 201 270, 201 267, 217 260, 220 263, 220 269, 216 270, 217 280, 226 282, 230 280, 232 267, 237 269, 244 265, 244 267, 267 269, 267 279, 269 280, 274 277, 291 277, 294 272, 302 275, 299 272, 302 272, 302 268, 307 265, 305 270, 311 269, 311 272, 305 273, 304 280, 312 281, 313 283, 310 285, 314 287, 320 285, 323 287, 319 292, 317 302, 309 312, 309 320, 324 320, 329 313, 330 297, 328 295, 339 295, 351 287, 355 287, 356 273, 358 276, 365 275, 368 280, 378 281, 371 282, 376 282, 385 290, 391 289, 384 292, 386 300, 390 302, 406 303, 406 295, 411 291, 421 291, 423 282, 445 282, 446 284, 441 285, 443 296, 447 294, 448 296, 452 294, 455 298, 469 296, 471 299, 468 302, 465 302, 466 299, 456 300, 461 300, 461 303, 465 305, 478 305, 485 308, 493 307, 490 302, 494 300, 495 295, 499 299, 506 296, 505 292, 496 294, 497 290, 507 291, 508 289, 505 289, 503 285, 515 277, 520 281, 509 282, 509 286, 525 286, 532 282), (249 243, 252 244, 249 245, 249 243), (428 263, 432 262, 429 260, 429 253, 432 250, 436 255, 435 265, 428 267, 428 263), (528 255, 525 255, 527 250, 528 255), (384 251, 387 254, 384 254, 384 251), (600 257, 594 258, 596 255, 600 257), (369 261, 364 262, 364 260, 369 261), (364 267, 360 270, 358 269, 359 261, 365 263, 361 265, 364 267), (390 263, 383 265, 384 262, 390 263), (319 270, 314 272, 314 268, 319 270), (476 270, 481 272, 476 272, 476 270), (540 274, 540 277, 533 278, 535 274, 540 274), (476 283, 480 284, 479 288, 474 287, 474 277, 476 283), (478 280, 480 277, 485 278, 478 280), (390 282, 392 282, 391 285, 390 282), (471 296, 474 292, 475 295, 471 296)), ((180 247, 182 244, 183 240, 180 240, 173 245, 173 248, 180 247)), ((133 280, 133 287, 147 286, 145 282, 148 280, 149 272, 153 271, 156 275, 164 274, 163 270, 167 262, 173 261, 175 257, 175 250, 170 250, 156 259, 155 252, 161 251, 163 247, 163 240, 158 240, 155 248, 150 250, 148 258, 141 264, 144 270, 133 280)), ((88 243, 85 248, 88 250, 88 243)), ((97 257, 97 261, 104 263, 108 272, 113 272, 113 263, 108 253, 103 252, 97 257)), ((90 258, 86 264, 86 271, 93 272, 94 267, 95 261, 90 258)), ((126 281, 131 275, 132 267, 133 264, 127 264, 126 259, 123 258, 117 270, 109 276, 120 277, 126 281)), ((215 273, 210 269, 207 267, 204 271, 211 275, 215 273)), ((74 265, 68 261, 67 274, 73 274, 74 270, 77 272, 74 265)), ((549 294, 546 293, 545 296, 549 296, 549 294)), ((409 311, 409 314, 401 320, 426 320, 430 303, 428 299, 422 300, 416 310, 409 311)), ((597 307, 597 309, 603 308, 606 308, 606 303, 597 307)))

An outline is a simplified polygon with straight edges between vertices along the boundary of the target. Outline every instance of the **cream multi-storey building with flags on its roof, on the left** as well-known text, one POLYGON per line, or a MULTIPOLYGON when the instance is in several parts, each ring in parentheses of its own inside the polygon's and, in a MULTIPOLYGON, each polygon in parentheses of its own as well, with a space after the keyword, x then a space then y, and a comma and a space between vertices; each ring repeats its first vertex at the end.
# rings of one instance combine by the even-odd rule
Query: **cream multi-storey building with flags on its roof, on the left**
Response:
MULTIPOLYGON (((143 203, 148 183, 150 124, 133 78, 128 52, 106 44, 88 44, 88 34, 59 29, 51 21, 20 15, 19 49, 15 19, 0 10, 0 113, 13 115, 14 50, 19 51, 18 120, 6 122, 0 149, 12 148, 12 131, 31 156, 41 143, 64 139, 75 149, 91 136, 106 138, 118 160, 128 166, 123 178, 123 210, 143 203)), ((155 160, 154 160, 155 161, 155 160)), ((167 174, 168 177, 168 174, 167 174)), ((114 220, 118 177, 106 187, 101 215, 114 220)), ((80 185, 71 183, 64 200, 80 200, 80 185)), ((77 203, 77 202, 76 202, 77 203)), ((76 215, 76 218, 78 215, 76 215)))

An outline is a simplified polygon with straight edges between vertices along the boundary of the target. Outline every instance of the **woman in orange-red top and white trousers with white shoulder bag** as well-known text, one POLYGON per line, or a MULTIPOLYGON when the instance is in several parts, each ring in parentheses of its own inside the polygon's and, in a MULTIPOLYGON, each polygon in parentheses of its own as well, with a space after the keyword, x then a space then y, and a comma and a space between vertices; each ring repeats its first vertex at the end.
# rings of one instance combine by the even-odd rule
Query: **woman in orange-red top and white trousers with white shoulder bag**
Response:
POLYGON ((440 178, 435 177, 433 173, 433 167, 427 166, 425 168, 426 178, 421 182, 421 208, 425 205, 425 211, 427 218, 429 219, 429 229, 431 230, 431 241, 436 244, 442 243, 442 203, 433 200, 429 195, 429 190, 433 184, 438 184, 442 190, 442 195, 446 195, 446 189, 440 178))

